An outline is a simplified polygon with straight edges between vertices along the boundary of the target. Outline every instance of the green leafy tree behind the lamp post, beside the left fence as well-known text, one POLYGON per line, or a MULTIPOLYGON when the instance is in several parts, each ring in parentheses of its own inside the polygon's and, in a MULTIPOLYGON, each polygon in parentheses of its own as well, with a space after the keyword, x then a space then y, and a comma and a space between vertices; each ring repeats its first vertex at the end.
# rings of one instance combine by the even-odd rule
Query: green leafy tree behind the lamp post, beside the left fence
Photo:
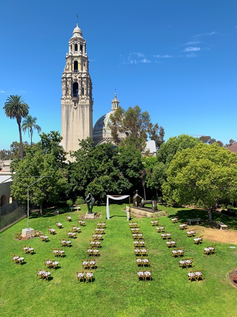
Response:
POLYGON ((41 179, 29 188, 29 202, 40 206, 40 214, 43 203, 56 204, 60 195, 66 190, 67 180, 63 169, 58 167, 54 155, 45 153, 39 144, 27 152, 24 159, 14 161, 11 167, 16 171, 16 174, 12 175, 12 195, 24 204, 27 203, 27 187, 39 180, 34 176, 52 176, 41 179))

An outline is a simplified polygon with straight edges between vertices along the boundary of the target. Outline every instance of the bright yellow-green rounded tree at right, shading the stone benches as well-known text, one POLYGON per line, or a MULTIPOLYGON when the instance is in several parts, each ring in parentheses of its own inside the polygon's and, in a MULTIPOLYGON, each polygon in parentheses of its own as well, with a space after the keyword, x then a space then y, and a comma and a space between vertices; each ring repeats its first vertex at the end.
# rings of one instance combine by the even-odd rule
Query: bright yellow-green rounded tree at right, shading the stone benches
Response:
POLYGON ((212 222, 218 203, 237 202, 237 155, 217 143, 185 149, 171 161, 162 192, 167 202, 206 209, 212 222))

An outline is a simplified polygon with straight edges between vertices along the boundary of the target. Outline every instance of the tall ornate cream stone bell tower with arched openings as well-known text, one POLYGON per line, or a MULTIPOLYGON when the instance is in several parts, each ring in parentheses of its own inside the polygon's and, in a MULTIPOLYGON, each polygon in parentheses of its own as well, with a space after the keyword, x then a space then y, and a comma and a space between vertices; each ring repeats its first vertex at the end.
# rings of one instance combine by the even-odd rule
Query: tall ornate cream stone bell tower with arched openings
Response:
POLYGON ((69 40, 68 52, 62 75, 61 98, 62 145, 66 152, 77 151, 78 139, 86 139, 93 134, 92 82, 86 41, 82 38, 78 23, 69 40))

